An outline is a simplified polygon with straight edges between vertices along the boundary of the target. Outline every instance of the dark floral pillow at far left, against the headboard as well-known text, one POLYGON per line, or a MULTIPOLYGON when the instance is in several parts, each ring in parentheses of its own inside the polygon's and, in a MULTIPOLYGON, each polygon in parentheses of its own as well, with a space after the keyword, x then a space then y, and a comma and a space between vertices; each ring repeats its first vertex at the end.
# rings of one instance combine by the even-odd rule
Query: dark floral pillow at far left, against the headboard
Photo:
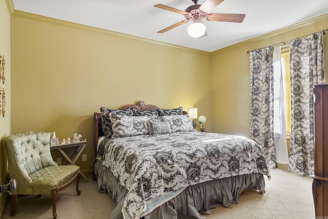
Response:
POLYGON ((115 112, 118 115, 127 115, 127 116, 133 116, 133 110, 131 108, 125 109, 125 110, 112 110, 108 109, 106 107, 100 107, 100 113, 101 113, 101 127, 103 128, 103 132, 105 136, 111 137, 113 134, 112 131, 112 124, 111 120, 109 118, 109 114, 111 112, 115 112))

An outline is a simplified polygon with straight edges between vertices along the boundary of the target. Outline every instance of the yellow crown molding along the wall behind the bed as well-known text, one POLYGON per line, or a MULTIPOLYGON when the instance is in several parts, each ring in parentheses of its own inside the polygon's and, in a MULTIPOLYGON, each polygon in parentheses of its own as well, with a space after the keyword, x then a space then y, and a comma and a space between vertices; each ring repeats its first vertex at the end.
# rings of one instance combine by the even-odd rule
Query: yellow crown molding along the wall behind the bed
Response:
MULTIPOLYGON (((12 2, 12 0, 6 0, 6 1, 12 2)), ((182 46, 176 46, 173 44, 154 41, 152 39, 142 38, 142 37, 138 37, 138 36, 132 36, 132 35, 124 34, 124 33, 118 33, 118 32, 114 32, 114 31, 110 31, 110 30, 105 30, 105 29, 101 29, 101 28, 96 28, 96 27, 77 24, 77 23, 73 23, 73 22, 63 21, 60 19, 51 18, 51 17, 33 14, 33 13, 28 13, 28 12, 19 11, 19 10, 13 10, 13 13, 11 14, 11 16, 30 19, 33 21, 48 23, 48 24, 52 24, 52 25, 69 27, 69 28, 74 28, 74 29, 99 33, 99 34, 105 34, 105 35, 108 35, 111 37, 125 38, 125 39, 131 40, 131 41, 166 47, 166 48, 170 48, 170 49, 191 51, 191 52, 197 52, 197 53, 202 53, 202 54, 210 54, 210 52, 206 52, 206 51, 191 49, 191 48, 182 47, 182 46)))

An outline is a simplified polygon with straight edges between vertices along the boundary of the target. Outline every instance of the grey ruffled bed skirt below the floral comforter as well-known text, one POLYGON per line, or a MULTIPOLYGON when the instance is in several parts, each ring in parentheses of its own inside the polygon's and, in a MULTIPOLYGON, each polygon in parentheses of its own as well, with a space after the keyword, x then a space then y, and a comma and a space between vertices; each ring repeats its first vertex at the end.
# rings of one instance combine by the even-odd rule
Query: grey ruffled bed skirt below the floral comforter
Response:
MULTIPOLYGON (((100 161, 95 162, 94 171, 99 193, 108 192, 116 205, 111 219, 123 218, 121 209, 128 190, 120 185, 118 178, 100 161)), ((264 188, 264 176, 260 173, 220 178, 187 187, 144 218, 206 218, 201 214, 211 214, 211 209, 219 205, 231 208, 231 204, 237 203, 239 195, 244 191, 256 189, 264 193, 264 188)))

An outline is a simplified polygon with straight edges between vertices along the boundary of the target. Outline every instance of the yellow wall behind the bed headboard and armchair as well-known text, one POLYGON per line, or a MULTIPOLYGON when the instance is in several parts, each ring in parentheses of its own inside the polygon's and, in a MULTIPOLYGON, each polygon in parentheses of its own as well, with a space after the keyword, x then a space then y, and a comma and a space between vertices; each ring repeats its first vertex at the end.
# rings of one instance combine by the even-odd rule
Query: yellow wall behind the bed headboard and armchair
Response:
MULTIPOLYGON (((211 127, 210 53, 156 45, 110 31, 14 11, 11 17, 11 132, 87 137, 93 112, 139 100, 160 108, 198 107, 211 127)), ((199 127, 199 125, 198 125, 199 127)), ((59 153, 52 151, 53 156, 59 153)))

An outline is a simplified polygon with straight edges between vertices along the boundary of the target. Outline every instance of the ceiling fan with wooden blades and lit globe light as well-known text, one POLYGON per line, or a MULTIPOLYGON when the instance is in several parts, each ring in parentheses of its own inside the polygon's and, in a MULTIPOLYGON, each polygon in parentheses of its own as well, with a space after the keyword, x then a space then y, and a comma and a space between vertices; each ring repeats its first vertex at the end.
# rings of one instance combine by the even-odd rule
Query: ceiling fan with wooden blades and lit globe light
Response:
POLYGON ((164 33, 168 30, 171 30, 175 27, 185 24, 189 21, 194 23, 188 27, 188 33, 192 37, 201 38, 207 36, 206 27, 202 22, 202 19, 207 21, 216 21, 216 22, 234 22, 241 23, 245 17, 245 14, 222 14, 222 13, 209 13, 212 9, 222 3, 224 0, 207 0, 202 5, 198 5, 198 0, 191 0, 195 5, 189 6, 185 11, 179 9, 171 8, 165 5, 154 5, 156 8, 172 11, 175 13, 182 14, 186 17, 185 20, 180 21, 170 27, 162 29, 157 33, 164 33))

